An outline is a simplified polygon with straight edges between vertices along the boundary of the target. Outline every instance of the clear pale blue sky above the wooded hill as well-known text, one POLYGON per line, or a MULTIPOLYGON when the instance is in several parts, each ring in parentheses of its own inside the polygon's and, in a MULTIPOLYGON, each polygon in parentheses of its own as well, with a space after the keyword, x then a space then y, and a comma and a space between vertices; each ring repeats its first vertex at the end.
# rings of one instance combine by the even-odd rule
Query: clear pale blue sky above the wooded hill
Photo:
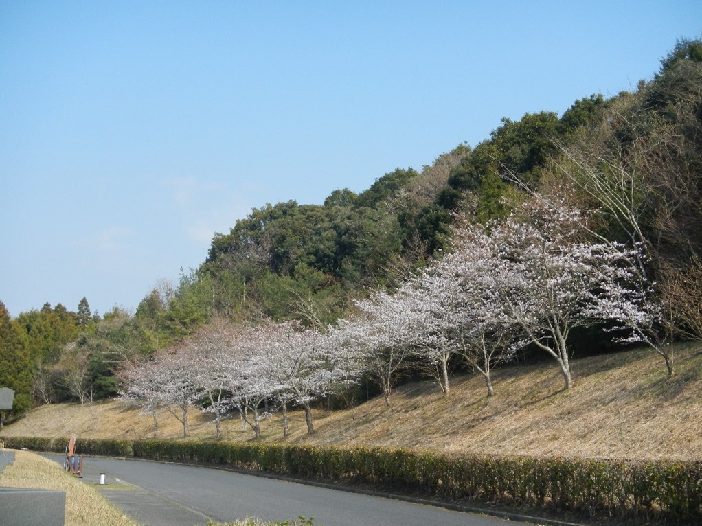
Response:
POLYGON ((634 90, 698 1, 0 0, 0 300, 134 309, 265 203, 634 90))

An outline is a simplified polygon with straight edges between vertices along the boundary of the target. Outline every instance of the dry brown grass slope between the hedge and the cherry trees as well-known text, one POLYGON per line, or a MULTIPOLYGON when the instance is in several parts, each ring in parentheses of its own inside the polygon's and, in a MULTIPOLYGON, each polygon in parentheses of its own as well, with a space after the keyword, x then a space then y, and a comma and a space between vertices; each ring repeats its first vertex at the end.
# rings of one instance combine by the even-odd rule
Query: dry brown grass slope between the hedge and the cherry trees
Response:
MULTIPOLYGON (((648 349, 574 360, 574 387, 562 389, 552 363, 505 367, 494 374, 488 398, 482 377, 454 377, 451 396, 432 382, 402 386, 387 408, 382 397, 349 410, 315 410, 317 433, 304 415, 289 412, 289 443, 387 445, 486 454, 564 457, 702 458, 702 346, 680 346, 677 374, 648 349)), ((214 438, 210 417, 192 411, 190 438, 214 438)), ((263 422, 263 441, 282 442, 279 414, 263 422)), ((151 438, 152 419, 114 401, 51 405, 32 410, 0 436, 151 438)), ((159 438, 183 428, 159 416, 159 438)), ((223 425, 223 440, 253 440, 238 417, 223 425)))

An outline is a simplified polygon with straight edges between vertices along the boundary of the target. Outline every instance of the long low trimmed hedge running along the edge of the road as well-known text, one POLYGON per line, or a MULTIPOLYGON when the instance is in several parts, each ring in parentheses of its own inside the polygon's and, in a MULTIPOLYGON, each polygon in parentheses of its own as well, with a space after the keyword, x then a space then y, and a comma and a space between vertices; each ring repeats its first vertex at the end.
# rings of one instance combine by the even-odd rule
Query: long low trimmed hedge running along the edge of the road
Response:
MULTIPOLYGON (((5 438, 63 452, 65 439, 5 438)), ((702 523, 702 462, 480 457, 387 447, 171 440, 77 440, 80 454, 213 464, 371 485, 472 503, 576 511, 589 517, 702 523)))

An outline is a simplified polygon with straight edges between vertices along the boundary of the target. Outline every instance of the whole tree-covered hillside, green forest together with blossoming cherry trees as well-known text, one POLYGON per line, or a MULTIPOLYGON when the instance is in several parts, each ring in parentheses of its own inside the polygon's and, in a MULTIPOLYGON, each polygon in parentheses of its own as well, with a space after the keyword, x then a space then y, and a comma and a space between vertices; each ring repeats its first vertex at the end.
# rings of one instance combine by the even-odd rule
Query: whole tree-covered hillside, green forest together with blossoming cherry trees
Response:
POLYGON ((421 170, 321 205, 256 208, 197 269, 135 311, 0 302, 0 426, 41 404, 119 397, 183 424, 382 396, 458 374, 486 395, 502 364, 645 346, 675 375, 702 339, 702 41, 681 39, 636 90, 562 115, 503 119, 421 170), (372 385, 369 388, 367 385, 372 385))

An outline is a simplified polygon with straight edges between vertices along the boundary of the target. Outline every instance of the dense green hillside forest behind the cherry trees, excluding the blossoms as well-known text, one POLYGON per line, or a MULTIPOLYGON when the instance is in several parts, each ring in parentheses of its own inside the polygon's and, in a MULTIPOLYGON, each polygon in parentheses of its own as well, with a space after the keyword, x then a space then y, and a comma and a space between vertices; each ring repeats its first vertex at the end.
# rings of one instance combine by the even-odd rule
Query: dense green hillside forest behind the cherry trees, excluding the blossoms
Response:
MULTIPOLYGON (((496 224, 529 201, 567 203, 585 211, 593 238, 642 246, 671 362, 674 340, 700 337, 702 41, 678 41, 633 92, 589 95, 560 116, 503 119, 475 147, 459 144, 421 170, 397 168, 359 194, 263 205, 133 313, 98 316, 84 298, 75 312, 45 304, 11 318, 0 302, 0 385, 18 393, 8 416, 32 403, 114 396, 125 364, 215 320, 323 330, 356 300, 398 290, 452 250, 456 221, 496 224)), ((617 348, 601 328, 581 336, 582 349, 617 348)))

